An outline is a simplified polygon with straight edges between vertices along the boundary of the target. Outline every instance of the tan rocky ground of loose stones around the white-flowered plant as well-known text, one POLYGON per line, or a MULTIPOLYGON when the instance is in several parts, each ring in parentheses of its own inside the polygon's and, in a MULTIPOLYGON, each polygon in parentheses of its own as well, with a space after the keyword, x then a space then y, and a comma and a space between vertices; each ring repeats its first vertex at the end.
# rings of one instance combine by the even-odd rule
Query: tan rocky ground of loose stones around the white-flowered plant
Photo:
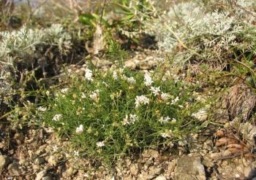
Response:
MULTIPOLYGON (((148 71, 163 58, 157 52, 144 51, 135 53, 126 65, 148 71)), ((111 66, 104 60, 94 59, 93 62, 99 67, 111 66)), ((71 67, 75 73, 80 73, 82 68, 71 67)), ((176 75, 187 78, 182 72, 176 75)), ((209 97, 214 91, 205 87, 202 92, 199 97, 209 97)), ((118 160, 112 168, 79 157, 79 152, 72 149, 67 139, 59 138, 48 128, 31 126, 11 130, 7 122, 1 123, 0 179, 256 179, 253 152, 256 130, 253 123, 243 119, 254 106, 254 94, 239 85, 230 87, 224 96, 214 109, 211 106, 200 111, 203 125, 207 127, 204 130, 190 134, 184 141, 160 149, 146 149, 118 160), (241 95, 239 90, 246 94, 241 95), (232 99, 234 92, 241 102, 232 99), (223 105, 224 99, 229 106, 223 105), (233 108, 231 111, 230 104, 238 104, 240 110, 233 108), (214 120, 206 121, 206 109, 211 109, 214 120), (234 115, 232 120, 230 113, 234 115), (239 131, 233 128, 238 121, 242 122, 239 131)))

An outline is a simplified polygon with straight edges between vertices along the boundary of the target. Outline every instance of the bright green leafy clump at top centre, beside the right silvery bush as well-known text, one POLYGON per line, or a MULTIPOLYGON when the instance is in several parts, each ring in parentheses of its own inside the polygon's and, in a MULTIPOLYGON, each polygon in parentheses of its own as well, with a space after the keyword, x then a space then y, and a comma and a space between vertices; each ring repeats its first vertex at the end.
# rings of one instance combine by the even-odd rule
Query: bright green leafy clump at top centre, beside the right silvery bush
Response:
POLYGON ((91 32, 100 24, 105 31, 114 34, 122 47, 129 48, 132 44, 143 44, 140 39, 146 36, 145 22, 156 14, 152 1, 115 0, 104 1, 95 12, 80 14, 79 21, 91 30, 85 32, 87 38, 91 39, 91 32))

